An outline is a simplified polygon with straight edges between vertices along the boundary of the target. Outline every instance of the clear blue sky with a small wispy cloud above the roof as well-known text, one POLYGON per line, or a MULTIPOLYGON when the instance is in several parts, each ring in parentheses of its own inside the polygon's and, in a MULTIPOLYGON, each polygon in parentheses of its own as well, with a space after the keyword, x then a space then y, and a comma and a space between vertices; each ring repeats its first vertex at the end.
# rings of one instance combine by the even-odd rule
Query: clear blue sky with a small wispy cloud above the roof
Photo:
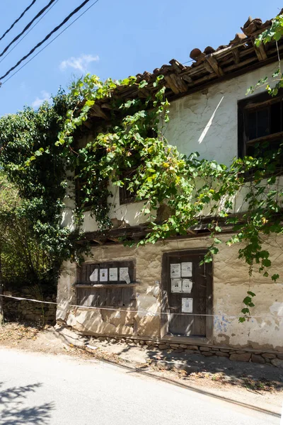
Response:
MULTIPOLYGON (((58 0, 54 7, 0 63, 1 75, 60 23, 82 0, 58 0)), ((18 18, 31 0, 1 4, 1 34, 18 18)), ((2 51, 33 16, 48 3, 37 0, 24 18, 0 42, 2 51)), ((93 0, 89 4, 92 4, 93 0)), ((85 72, 102 79, 120 79, 153 71, 172 58, 186 62, 194 47, 228 44, 248 16, 274 17, 279 1, 238 0, 99 0, 73 26, 0 88, 0 115, 15 113, 26 105, 37 107, 42 99, 66 88, 85 72)), ((88 6, 85 6, 87 8, 88 6)), ((84 10, 84 9, 83 9, 84 10)), ((0 58, 2 60, 3 57, 0 58)))

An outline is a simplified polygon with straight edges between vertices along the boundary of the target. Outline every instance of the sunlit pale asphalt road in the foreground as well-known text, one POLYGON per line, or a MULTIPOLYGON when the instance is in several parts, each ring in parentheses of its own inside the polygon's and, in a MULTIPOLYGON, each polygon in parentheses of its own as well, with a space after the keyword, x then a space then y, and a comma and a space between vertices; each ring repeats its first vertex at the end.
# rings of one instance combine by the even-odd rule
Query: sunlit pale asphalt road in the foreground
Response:
POLYGON ((0 349, 0 425, 279 425, 115 365, 0 349))

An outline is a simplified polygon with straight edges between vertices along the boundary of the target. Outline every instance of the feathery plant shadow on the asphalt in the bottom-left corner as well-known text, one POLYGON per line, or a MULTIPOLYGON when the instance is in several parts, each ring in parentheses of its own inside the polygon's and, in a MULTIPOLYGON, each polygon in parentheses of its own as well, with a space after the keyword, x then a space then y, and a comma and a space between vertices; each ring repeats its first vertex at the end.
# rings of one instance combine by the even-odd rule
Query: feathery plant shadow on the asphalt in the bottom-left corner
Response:
POLYGON ((35 407, 23 407, 23 402, 30 392, 35 392, 42 384, 25 385, 1 389, 0 382, 0 425, 45 425, 50 423, 50 412, 53 403, 45 403, 35 407))

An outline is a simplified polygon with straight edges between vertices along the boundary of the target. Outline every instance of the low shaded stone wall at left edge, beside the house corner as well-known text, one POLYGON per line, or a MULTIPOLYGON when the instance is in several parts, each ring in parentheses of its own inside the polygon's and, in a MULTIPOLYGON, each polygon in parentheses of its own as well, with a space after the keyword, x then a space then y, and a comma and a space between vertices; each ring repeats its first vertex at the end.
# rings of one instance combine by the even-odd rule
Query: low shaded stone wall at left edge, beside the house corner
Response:
MULTIPOLYGON (((4 295, 13 297, 33 298, 28 293, 28 288, 21 288, 18 290, 6 291, 4 295)), ((34 324, 54 324, 56 319, 56 305, 55 304, 39 304, 38 302, 25 301, 25 300, 11 300, 8 297, 3 298, 4 319, 8 322, 31 322, 34 324)), ((56 295, 45 297, 45 301, 56 302, 56 295)))

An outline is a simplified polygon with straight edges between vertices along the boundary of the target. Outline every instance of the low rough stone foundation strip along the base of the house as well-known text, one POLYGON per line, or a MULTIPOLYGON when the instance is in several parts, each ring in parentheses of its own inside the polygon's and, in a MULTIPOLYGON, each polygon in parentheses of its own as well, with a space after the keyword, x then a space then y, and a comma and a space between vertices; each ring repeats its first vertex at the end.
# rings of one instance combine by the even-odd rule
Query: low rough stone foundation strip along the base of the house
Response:
POLYGON ((129 338, 106 338, 105 336, 92 336, 91 340, 95 343, 98 341, 108 341, 112 344, 117 342, 126 343, 129 345, 136 344, 137 346, 148 346, 149 349, 158 349, 161 351, 173 351, 173 353, 196 353, 202 356, 219 356, 229 358, 231 361, 243 361, 253 363, 270 363, 277 368, 283 368, 283 353, 271 353, 269 351, 251 351, 251 350, 233 350, 231 348, 221 348, 216 346, 200 346, 190 344, 178 344, 170 341, 151 341, 144 339, 129 339, 129 338))

